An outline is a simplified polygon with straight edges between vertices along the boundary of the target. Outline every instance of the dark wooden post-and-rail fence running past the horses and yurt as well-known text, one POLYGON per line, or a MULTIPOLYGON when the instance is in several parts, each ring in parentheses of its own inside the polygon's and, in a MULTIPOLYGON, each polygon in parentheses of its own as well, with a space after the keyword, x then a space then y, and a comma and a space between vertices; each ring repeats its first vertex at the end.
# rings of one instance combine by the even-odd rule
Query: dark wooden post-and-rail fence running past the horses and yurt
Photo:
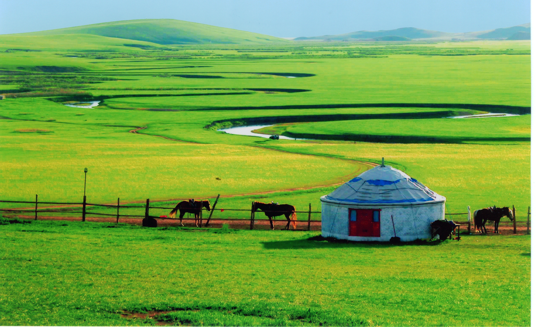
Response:
MULTIPOLYGON (((212 206, 212 209, 210 211, 209 217, 206 219, 205 227, 209 226, 209 222, 212 219, 212 214, 214 212, 214 209, 216 205, 218 204, 218 199, 220 198, 220 195, 218 194, 218 197, 216 198, 214 205, 212 206)), ((57 212, 56 210, 47 210, 47 209, 41 209, 38 210, 38 204, 62 204, 62 205, 76 205, 82 206, 81 211, 69 211, 69 213, 81 213, 82 214, 82 221, 86 221, 86 215, 96 215, 96 216, 103 216, 103 217, 115 217, 116 223, 119 222, 120 217, 137 217, 137 218, 155 218, 155 219, 170 219, 170 220, 179 220, 178 218, 170 218, 167 216, 152 216, 149 214, 149 209, 169 209, 173 210, 175 207, 158 207, 158 206, 151 206, 150 200, 146 199, 145 205, 121 205, 120 204, 120 198, 117 198, 117 205, 115 204, 97 204, 97 203, 88 203, 86 196, 84 196, 84 199, 81 203, 76 202, 38 202, 38 195, 35 195, 35 201, 9 201, 9 200, 0 200, 0 203, 28 203, 28 204, 35 204, 35 209, 0 209, 0 212, 34 212, 35 218, 34 220, 38 219, 38 212, 57 212), (88 212, 87 206, 101 206, 101 207, 107 207, 107 208, 117 208, 117 212, 115 214, 109 214, 109 213, 102 213, 102 212, 88 212), (144 208, 145 214, 143 215, 135 215, 135 214, 120 214, 119 209, 120 208, 144 208)), ((256 219, 255 218, 255 211, 254 209, 254 202, 251 202, 251 209, 226 209, 226 208, 219 208, 218 210, 221 211, 249 211, 250 212, 250 218, 218 218, 218 220, 229 220, 229 221, 236 221, 236 220, 249 220, 250 226, 249 229, 253 229, 255 226, 255 221, 269 221, 269 219, 256 219)), ((272 212, 279 212, 279 211, 272 211, 272 212)), ((280 211, 280 212, 287 212, 287 211, 280 211)), ((311 230, 311 222, 321 222, 322 220, 311 220, 311 213, 322 213, 321 211, 311 211, 311 204, 309 203, 309 210, 308 211, 295 211, 296 213, 307 213, 308 218, 307 220, 296 220, 296 222, 307 222, 307 230, 311 230)), ((513 213, 513 233, 517 234, 517 220, 516 220, 516 207, 512 205, 512 213, 513 213)), ((471 214, 471 207, 467 206, 467 212, 463 213, 445 213, 445 215, 467 215, 467 221, 461 220, 456 221, 456 224, 460 225, 467 225, 467 232, 471 233, 471 220, 472 220, 472 214, 471 214)), ((200 225, 203 225, 203 210, 200 209, 199 212, 199 218, 200 218, 200 225)), ((183 220, 193 220, 195 218, 183 218, 183 220)), ((287 221, 286 219, 272 219, 272 221, 287 221)), ((531 207, 528 207, 527 210, 527 221, 526 221, 526 234, 530 234, 530 228, 531 228, 531 207)))

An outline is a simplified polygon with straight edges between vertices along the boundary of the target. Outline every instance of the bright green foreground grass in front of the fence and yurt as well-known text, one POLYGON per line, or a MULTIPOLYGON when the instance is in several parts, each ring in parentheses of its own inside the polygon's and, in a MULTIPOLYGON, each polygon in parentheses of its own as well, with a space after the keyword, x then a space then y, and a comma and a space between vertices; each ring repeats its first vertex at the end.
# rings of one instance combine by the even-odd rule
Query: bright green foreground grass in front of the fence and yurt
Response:
POLYGON ((529 236, 391 246, 88 222, 0 229, 3 325, 154 324, 122 310, 192 325, 530 324, 529 236))

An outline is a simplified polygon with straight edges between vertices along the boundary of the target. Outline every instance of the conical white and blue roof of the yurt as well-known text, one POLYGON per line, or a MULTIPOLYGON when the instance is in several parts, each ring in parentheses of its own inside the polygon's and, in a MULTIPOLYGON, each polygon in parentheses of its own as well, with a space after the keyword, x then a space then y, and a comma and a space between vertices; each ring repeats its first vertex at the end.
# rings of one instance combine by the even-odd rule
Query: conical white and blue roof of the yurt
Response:
POLYGON ((418 180, 388 165, 369 169, 320 199, 348 205, 415 205, 446 200, 418 180))

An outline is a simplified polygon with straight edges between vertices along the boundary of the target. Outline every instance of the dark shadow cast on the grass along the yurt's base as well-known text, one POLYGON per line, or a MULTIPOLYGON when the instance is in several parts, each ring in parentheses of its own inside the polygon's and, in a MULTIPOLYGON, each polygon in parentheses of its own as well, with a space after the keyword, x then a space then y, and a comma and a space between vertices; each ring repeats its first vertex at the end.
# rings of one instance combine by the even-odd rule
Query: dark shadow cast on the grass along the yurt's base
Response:
POLYGON ((443 242, 440 240, 415 240, 412 242, 359 242, 349 240, 338 240, 333 237, 322 237, 321 235, 309 237, 304 240, 291 241, 270 241, 261 242, 265 249, 319 249, 319 248, 385 248, 400 246, 437 246, 443 242))

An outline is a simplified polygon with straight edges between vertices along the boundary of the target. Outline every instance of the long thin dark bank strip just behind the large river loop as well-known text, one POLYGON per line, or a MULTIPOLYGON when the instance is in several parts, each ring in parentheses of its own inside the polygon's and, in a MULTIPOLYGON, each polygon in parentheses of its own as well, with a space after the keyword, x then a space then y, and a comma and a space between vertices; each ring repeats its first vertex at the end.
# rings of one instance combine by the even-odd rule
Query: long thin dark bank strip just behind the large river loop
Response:
MULTIPOLYGON (((210 107, 189 110, 272 110, 272 109, 337 109, 337 108, 452 108, 470 109, 485 112, 504 112, 509 114, 530 114, 531 107, 505 106, 505 105, 480 105, 473 103, 340 103, 334 105, 286 105, 286 106, 262 106, 262 107, 210 107)), ((244 118, 245 119, 245 118, 244 118)))

